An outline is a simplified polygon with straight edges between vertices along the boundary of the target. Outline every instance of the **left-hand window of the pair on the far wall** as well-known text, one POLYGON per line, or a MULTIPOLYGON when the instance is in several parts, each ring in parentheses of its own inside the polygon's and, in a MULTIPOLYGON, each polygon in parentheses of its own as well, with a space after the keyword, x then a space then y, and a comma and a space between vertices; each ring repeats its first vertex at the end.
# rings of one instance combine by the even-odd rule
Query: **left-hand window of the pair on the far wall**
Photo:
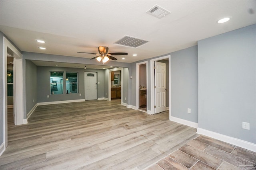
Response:
POLYGON ((51 94, 63 94, 63 72, 50 72, 51 94))

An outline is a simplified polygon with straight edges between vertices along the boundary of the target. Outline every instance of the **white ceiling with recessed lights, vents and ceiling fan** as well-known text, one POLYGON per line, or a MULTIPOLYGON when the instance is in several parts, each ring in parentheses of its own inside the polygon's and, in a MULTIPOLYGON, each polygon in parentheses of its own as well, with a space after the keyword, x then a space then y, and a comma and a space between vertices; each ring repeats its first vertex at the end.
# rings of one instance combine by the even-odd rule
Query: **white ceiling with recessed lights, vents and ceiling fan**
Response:
POLYGON ((127 52, 115 56, 117 62, 132 63, 255 24, 255 11, 256 0, 0 0, 0 30, 21 51, 92 58, 76 52, 98 53, 102 45, 110 53, 127 52), (161 19, 146 14, 156 4, 171 13, 161 19), (230 21, 217 23, 225 17, 230 21), (124 35, 149 42, 114 44, 124 35))

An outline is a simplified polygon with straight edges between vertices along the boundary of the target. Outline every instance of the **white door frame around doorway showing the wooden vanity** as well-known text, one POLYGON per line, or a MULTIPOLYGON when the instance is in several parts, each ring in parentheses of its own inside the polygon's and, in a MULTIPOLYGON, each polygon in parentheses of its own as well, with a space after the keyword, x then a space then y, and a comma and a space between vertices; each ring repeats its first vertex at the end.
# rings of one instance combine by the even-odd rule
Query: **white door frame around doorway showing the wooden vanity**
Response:
MULTIPOLYGON (((146 64, 146 88, 148 99, 148 61, 136 63, 136 109, 140 108, 140 65, 146 64)), ((148 113, 148 100, 147 100, 147 113, 148 113)))

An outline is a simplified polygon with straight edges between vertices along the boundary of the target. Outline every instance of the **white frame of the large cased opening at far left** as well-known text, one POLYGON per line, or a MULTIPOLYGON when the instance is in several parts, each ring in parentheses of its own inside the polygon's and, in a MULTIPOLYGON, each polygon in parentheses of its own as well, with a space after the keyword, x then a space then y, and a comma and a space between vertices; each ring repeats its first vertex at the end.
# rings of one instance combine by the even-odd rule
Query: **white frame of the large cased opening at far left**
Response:
POLYGON ((14 113, 15 125, 26 124, 27 120, 23 119, 24 112, 24 88, 23 88, 23 70, 22 70, 22 53, 3 37, 3 118, 4 118, 4 148, 8 145, 8 121, 7 121, 7 51, 8 48, 12 51, 14 57, 14 113), (19 84, 19 85, 18 85, 19 84), (17 102, 18 101, 18 102, 17 102))

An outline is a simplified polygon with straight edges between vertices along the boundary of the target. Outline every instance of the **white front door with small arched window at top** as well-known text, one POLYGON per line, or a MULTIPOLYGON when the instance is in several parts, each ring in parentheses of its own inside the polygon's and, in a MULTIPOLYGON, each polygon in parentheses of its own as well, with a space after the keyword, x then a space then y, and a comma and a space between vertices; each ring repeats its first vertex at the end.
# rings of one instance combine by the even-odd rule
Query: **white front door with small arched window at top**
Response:
POLYGON ((84 93, 85 100, 97 99, 97 73, 84 72, 84 93))

